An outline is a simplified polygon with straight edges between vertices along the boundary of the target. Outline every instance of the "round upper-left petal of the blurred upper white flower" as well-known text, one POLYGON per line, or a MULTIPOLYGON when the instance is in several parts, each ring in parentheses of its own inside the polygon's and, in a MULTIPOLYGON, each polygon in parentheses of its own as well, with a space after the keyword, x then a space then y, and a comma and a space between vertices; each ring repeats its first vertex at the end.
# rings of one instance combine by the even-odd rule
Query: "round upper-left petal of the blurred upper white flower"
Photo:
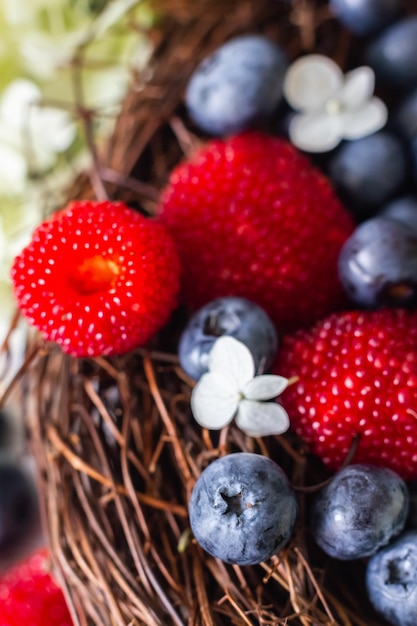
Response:
POLYGON ((284 95, 296 110, 316 111, 343 85, 339 66, 321 54, 309 54, 290 65, 284 95))

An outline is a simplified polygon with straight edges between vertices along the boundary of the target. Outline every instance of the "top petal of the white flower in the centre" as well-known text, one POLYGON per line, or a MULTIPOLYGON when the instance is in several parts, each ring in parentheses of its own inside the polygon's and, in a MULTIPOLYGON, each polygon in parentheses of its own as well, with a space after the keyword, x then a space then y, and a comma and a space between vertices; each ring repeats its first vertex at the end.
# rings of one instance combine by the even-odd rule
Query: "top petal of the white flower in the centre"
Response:
POLYGON ((231 381, 239 391, 255 375, 255 364, 250 350, 234 337, 219 337, 210 351, 208 368, 231 381))

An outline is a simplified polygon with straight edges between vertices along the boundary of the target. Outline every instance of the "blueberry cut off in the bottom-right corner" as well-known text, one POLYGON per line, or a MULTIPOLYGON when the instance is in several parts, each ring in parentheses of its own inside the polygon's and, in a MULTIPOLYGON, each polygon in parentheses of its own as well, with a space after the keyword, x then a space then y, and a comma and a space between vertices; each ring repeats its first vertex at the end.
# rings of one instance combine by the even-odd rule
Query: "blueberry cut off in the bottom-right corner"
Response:
POLYGON ((417 624, 417 530, 401 535, 368 562, 366 588, 381 615, 393 626, 417 624))

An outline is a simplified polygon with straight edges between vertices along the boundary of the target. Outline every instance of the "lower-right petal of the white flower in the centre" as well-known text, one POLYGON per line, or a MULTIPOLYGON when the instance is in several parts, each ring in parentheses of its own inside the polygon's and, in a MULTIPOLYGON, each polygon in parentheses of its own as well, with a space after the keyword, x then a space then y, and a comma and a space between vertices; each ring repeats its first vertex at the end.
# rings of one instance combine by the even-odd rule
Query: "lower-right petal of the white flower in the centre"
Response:
POLYGON ((285 409, 276 402, 242 400, 236 424, 250 437, 266 437, 285 432, 290 420, 285 409))

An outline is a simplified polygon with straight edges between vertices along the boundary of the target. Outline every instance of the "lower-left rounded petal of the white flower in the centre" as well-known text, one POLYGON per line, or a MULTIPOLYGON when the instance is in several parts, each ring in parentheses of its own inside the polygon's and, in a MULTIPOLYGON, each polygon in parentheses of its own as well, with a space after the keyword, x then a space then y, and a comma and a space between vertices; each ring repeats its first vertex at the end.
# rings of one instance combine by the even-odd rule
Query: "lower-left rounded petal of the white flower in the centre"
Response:
POLYGON ((227 382, 216 372, 204 374, 191 394, 191 410, 196 422, 203 428, 218 430, 232 421, 239 403, 239 395, 231 391, 227 382))

